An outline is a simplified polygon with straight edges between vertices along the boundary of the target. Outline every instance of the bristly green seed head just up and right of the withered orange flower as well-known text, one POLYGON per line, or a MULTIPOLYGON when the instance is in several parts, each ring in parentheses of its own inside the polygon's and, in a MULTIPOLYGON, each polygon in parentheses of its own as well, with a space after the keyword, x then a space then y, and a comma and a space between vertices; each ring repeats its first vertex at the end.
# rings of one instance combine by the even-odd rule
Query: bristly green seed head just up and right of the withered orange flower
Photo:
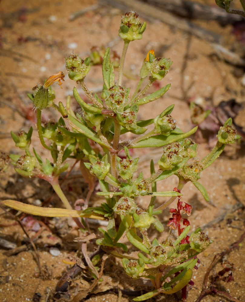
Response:
POLYGON ((90 70, 90 58, 81 59, 75 53, 71 53, 65 59, 65 67, 68 71, 68 77, 73 81, 79 81, 87 76, 90 70))

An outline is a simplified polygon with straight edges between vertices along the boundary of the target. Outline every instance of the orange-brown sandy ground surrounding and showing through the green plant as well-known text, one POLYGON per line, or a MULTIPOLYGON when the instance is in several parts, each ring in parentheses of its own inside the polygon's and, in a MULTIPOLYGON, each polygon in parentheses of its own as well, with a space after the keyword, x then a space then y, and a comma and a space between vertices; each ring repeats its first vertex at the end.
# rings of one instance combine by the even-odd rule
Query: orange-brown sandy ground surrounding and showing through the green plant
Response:
MULTIPOLYGON (((205 1, 198 1, 205 2, 205 1)), ((108 43, 121 55, 123 42, 118 38, 118 27, 120 16, 124 14, 118 8, 109 5, 101 5, 95 10, 89 10, 74 21, 69 16, 76 11, 82 10, 90 5, 98 3, 95 0, 67 0, 48 1, 41 3, 29 0, 2 1, 1 33, 0 33, 0 55, 1 55, 1 151, 7 153, 20 153, 10 137, 10 130, 18 132, 25 131, 32 125, 35 128, 35 114, 26 93, 36 83, 44 80, 58 72, 63 71, 66 75, 63 90, 53 85, 56 92, 56 102, 65 103, 66 96, 71 94, 74 82, 68 79, 65 70, 64 57, 74 50, 81 57, 90 54, 93 46, 107 47, 108 43)), ((212 30, 223 37, 223 45, 233 50, 240 56, 244 55, 244 41, 238 41, 234 35, 231 25, 221 27, 216 21, 194 21, 206 29, 212 30)), ((188 131, 193 127, 190 122, 190 110, 188 101, 198 100, 204 107, 215 108, 221 101, 234 98, 239 104, 243 104, 245 89, 241 85, 244 74, 242 67, 235 67, 217 57, 211 44, 205 39, 197 38, 173 26, 168 26, 160 21, 148 21, 147 29, 141 41, 135 41, 129 46, 126 58, 124 85, 133 88, 137 85, 137 73, 141 62, 148 50, 153 49, 157 56, 170 57, 174 62, 171 72, 160 87, 171 83, 171 90, 154 104, 142 106, 139 119, 155 117, 168 105, 175 104, 173 116, 177 119, 178 127, 188 131), (133 78, 129 79, 129 77, 133 78)), ((101 66, 94 66, 87 78, 87 85, 94 91, 102 88, 101 66)), ((156 87, 151 88, 151 92, 156 87)), ((74 107, 75 101, 73 101, 74 107)), ((46 113, 48 118, 52 111, 46 113)), ((244 110, 241 109, 235 119, 236 123, 243 128, 244 110)), ((199 158, 203 158, 212 146, 215 134, 205 132, 205 137, 199 132, 195 139, 200 146, 198 148, 199 158)), ((45 149, 38 143, 37 131, 34 130, 32 139, 33 146, 38 149, 39 154, 46 156, 45 149)), ((140 157, 140 166, 147 177, 149 175, 148 160, 153 157, 154 162, 161 157, 160 150, 134 150, 133 156, 140 157)), ((72 164, 72 162, 71 162, 72 164)), ((207 188, 210 202, 207 203, 202 195, 192 184, 187 184, 183 189, 183 201, 190 203, 193 212, 190 217, 191 230, 197 226, 204 226, 205 231, 214 240, 214 243, 206 252, 200 255, 199 269, 194 272, 195 282, 188 292, 187 301, 197 299, 202 289, 204 274, 214 255, 222 252, 237 241, 244 232, 244 142, 227 146, 220 158, 201 175, 200 182, 207 188), (211 222, 211 223, 210 223, 211 222)), ((172 190, 176 186, 175 176, 171 177, 158 189, 172 190)), ((84 197, 87 192, 86 184, 79 174, 78 167, 63 183, 65 194, 74 202, 84 197)), ((17 199, 23 202, 35 204, 39 201, 45 206, 61 206, 51 187, 44 181, 23 179, 16 175, 10 168, 8 173, 1 175, 0 186, 1 199, 17 199)), ((157 203, 164 200, 158 198, 157 203)), ((140 199, 142 207, 147 200, 140 199)), ((91 204, 99 203, 98 198, 93 196, 91 204)), ((22 217, 22 214, 18 215, 22 217)), ((167 223, 168 211, 163 213, 161 221, 167 223)), ((36 217, 37 218, 37 217, 36 217)), ((35 219, 36 219, 35 218, 35 219)), ((0 236, 6 240, 21 246, 27 242, 27 238, 20 226, 1 210, 0 236)), ((38 248, 41 267, 44 271, 42 278, 37 278, 38 266, 35 261, 35 253, 31 248, 8 256, 8 249, 0 250, 0 300, 1 301, 32 301, 35 293, 40 301, 66 301, 74 296, 77 291, 87 289, 91 279, 87 273, 71 282, 70 291, 60 296, 55 294, 55 286, 61 275, 68 267, 62 259, 68 255, 80 255, 76 252, 78 245, 73 242, 79 233, 73 229, 73 224, 66 219, 44 220, 37 218, 41 227, 40 234, 28 230, 29 236, 36 236, 35 244, 38 248), (46 225, 48 227, 46 227, 46 225), (60 250, 58 256, 50 254, 50 248, 57 247, 60 250)), ((91 230, 96 232, 98 224, 91 224, 91 230)), ((161 236, 165 236, 163 233, 161 236)), ((154 231, 152 231, 152 236, 154 231)), ((93 251, 93 246, 90 246, 93 251)), ((131 249, 134 255, 134 249, 131 249)), ((244 300, 245 297, 245 247, 244 242, 239 249, 233 250, 226 259, 235 263, 236 270, 233 272, 234 281, 230 283, 219 283, 219 290, 225 291, 232 297, 244 300)), ((221 269, 220 261, 214 266, 215 271, 221 269)), ((212 271, 212 273, 214 273, 212 271)), ((141 280, 131 280, 124 273, 119 261, 110 259, 106 262, 103 282, 98 285, 86 301, 120 301, 114 288, 121 290, 152 290, 149 284, 141 280), (111 290, 111 291, 110 291, 111 290)), ((180 299, 180 294, 178 294, 180 299)), ((33 301, 39 301, 33 300, 33 301)), ((123 295, 121 301, 132 301, 131 297, 123 295)), ((152 301, 171 302, 176 301, 174 296, 157 296, 152 301)), ((203 302, 227 301, 224 297, 213 295, 207 296, 203 302)))

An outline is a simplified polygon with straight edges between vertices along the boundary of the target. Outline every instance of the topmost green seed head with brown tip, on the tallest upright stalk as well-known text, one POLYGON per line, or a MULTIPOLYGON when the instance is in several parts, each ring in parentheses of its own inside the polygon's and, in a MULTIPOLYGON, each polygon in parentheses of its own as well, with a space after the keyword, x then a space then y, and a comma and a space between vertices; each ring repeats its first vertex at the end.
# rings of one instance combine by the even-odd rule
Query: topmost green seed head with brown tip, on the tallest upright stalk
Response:
POLYGON ((134 11, 130 11, 127 12, 121 19, 119 37, 127 42, 141 40, 145 29, 146 22, 141 25, 139 15, 134 11))

